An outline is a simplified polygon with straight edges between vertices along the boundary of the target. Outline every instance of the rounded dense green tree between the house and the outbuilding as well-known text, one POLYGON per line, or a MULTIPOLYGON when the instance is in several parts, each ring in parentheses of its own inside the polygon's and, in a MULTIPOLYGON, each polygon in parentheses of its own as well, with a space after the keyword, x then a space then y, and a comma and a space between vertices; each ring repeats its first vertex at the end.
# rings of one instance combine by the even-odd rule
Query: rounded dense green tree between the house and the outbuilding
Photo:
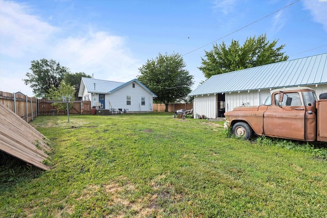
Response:
POLYGON ((159 55, 138 68, 137 79, 158 97, 155 103, 181 101, 191 92, 193 76, 185 69, 186 64, 178 53, 159 55))

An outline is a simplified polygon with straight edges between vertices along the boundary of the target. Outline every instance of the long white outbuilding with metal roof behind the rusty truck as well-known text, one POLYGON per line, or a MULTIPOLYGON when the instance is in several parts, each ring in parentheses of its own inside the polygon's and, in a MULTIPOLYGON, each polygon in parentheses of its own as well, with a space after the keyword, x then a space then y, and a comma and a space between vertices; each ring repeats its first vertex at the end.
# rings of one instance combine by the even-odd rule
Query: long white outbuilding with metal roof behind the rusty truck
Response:
POLYGON ((261 105, 272 89, 296 86, 314 89, 317 97, 327 92, 327 53, 214 75, 189 96, 194 114, 216 118, 242 104, 261 105))

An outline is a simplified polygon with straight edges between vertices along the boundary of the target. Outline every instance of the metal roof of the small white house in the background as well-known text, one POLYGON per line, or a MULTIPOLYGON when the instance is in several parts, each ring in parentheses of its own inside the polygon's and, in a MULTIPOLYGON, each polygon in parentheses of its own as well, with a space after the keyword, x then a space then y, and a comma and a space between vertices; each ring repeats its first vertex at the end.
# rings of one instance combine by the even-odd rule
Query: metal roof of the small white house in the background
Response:
POLYGON ((156 94, 154 94, 150 89, 148 89, 143 83, 139 82, 136 79, 133 79, 131 81, 128 81, 126 83, 122 82, 113 82, 113 81, 107 81, 107 80, 97 80, 93 78, 87 78, 82 77, 82 82, 80 85, 79 90, 79 96, 82 96, 82 90, 83 86, 86 87, 86 90, 88 93, 100 93, 100 94, 106 94, 106 93, 112 93, 132 82, 138 83, 141 87, 143 87, 146 91, 148 91, 150 94, 152 94, 153 97, 157 97, 156 94))

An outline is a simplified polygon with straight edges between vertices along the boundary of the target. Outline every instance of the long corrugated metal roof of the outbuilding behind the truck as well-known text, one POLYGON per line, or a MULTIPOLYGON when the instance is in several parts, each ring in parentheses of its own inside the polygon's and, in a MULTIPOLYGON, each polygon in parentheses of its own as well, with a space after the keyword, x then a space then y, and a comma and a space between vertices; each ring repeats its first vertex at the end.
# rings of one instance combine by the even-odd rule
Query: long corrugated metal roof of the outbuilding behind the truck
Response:
POLYGON ((214 75, 189 96, 327 84, 327 53, 214 75))

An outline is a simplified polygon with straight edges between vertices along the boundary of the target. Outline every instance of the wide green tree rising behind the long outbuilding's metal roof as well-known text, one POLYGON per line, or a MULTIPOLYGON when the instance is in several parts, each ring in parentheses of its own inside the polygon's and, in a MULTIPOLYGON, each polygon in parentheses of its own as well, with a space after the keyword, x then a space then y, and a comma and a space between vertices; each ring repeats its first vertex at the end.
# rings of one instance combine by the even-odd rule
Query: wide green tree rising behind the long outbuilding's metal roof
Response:
POLYGON ((202 66, 198 68, 208 79, 225 72, 286 61, 289 57, 282 52, 285 44, 276 47, 277 42, 278 40, 273 40, 270 43, 266 34, 263 34, 258 38, 247 38, 243 46, 236 40, 231 40, 229 46, 224 42, 219 45, 216 43, 213 50, 204 51, 205 58, 201 58, 202 66))

